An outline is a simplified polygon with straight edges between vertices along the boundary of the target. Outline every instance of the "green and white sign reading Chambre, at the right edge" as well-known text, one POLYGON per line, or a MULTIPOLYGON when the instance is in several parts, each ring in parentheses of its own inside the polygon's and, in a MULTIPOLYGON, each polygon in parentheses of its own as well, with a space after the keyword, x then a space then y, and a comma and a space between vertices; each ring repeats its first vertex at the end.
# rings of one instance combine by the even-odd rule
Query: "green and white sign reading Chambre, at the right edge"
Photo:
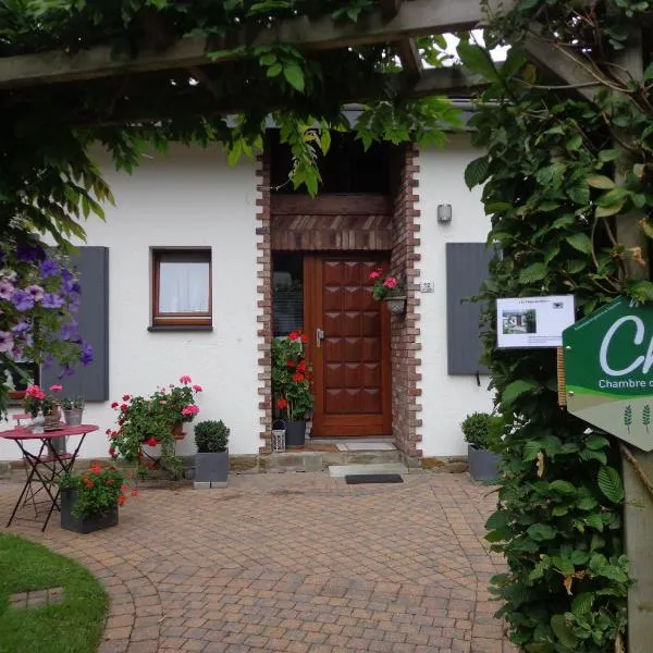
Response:
POLYGON ((615 299, 563 332, 567 409, 653 449, 653 306, 615 299))

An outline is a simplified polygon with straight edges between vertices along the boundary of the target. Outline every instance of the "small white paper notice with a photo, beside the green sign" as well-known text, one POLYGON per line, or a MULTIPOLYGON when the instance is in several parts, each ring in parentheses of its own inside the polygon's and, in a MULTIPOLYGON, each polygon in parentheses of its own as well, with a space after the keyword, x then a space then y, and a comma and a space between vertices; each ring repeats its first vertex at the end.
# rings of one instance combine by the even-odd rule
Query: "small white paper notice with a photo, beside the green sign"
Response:
POLYGON ((500 348, 562 347, 563 331, 574 322, 574 295, 496 300, 500 348))

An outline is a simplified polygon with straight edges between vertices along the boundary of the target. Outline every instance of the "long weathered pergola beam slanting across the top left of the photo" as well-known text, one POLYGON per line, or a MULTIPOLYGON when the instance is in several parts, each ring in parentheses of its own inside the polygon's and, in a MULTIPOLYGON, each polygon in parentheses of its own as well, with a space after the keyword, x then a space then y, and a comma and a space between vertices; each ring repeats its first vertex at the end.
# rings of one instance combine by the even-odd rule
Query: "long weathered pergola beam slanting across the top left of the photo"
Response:
MULTIPOLYGON (((489 9, 509 11, 517 0, 489 0, 489 9)), ((145 73, 189 69, 211 63, 208 53, 238 46, 292 44, 306 51, 348 48, 402 38, 471 29, 483 17, 481 0, 409 0, 397 13, 383 16, 381 8, 361 15, 357 23, 335 22, 331 16, 310 20, 307 16, 282 21, 252 35, 251 27, 214 42, 207 38, 185 38, 163 51, 141 50, 135 57, 116 54, 110 46, 97 46, 75 54, 50 51, 0 58, 0 88, 79 82, 123 73, 145 73)), ((225 62, 231 58, 223 58, 225 62)))

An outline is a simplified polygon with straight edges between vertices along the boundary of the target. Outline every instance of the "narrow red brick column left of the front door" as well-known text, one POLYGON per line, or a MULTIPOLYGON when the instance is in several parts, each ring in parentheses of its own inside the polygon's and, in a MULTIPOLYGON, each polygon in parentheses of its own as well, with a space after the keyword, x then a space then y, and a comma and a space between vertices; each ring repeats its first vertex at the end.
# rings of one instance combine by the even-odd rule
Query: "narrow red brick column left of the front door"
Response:
POLYGON ((259 353, 259 409, 262 410, 260 436, 263 442, 260 453, 270 451, 270 432, 272 422, 272 255, 270 247, 270 158, 263 153, 257 159, 258 207, 257 241, 257 322, 259 353))

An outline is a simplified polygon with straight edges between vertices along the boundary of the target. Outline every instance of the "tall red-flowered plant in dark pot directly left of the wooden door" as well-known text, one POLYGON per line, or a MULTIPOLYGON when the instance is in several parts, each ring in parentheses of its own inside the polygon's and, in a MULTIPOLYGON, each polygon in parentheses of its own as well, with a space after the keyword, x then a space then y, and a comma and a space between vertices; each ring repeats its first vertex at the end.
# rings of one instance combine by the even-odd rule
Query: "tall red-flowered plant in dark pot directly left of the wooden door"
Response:
POLYGON ((311 368, 304 356, 307 342, 299 331, 272 342, 272 393, 285 422, 286 447, 304 446, 306 420, 313 407, 311 368))

